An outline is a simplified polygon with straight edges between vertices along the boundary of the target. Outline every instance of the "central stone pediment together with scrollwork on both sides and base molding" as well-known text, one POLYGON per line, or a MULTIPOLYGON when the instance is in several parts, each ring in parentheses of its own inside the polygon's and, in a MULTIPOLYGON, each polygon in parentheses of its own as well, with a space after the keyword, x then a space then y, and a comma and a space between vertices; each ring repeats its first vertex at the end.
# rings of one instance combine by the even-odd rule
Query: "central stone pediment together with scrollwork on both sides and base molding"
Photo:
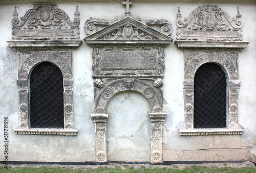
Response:
POLYGON ((126 17, 122 20, 116 19, 116 22, 109 22, 108 20, 92 19, 90 18, 86 22, 86 33, 90 34, 84 41, 93 47, 97 46, 165 46, 170 44, 173 39, 168 35, 169 30, 172 30, 168 26, 168 21, 166 20, 156 20, 156 21, 145 21, 140 22, 131 17, 126 17), (157 31, 155 28, 148 27, 146 22, 150 26, 156 26, 156 28, 162 26, 157 31), (109 23, 109 24, 106 24, 109 23), (97 31, 100 26, 101 30, 97 31), (165 32, 166 31, 166 32, 165 32), (114 42, 113 42, 114 41, 114 42))

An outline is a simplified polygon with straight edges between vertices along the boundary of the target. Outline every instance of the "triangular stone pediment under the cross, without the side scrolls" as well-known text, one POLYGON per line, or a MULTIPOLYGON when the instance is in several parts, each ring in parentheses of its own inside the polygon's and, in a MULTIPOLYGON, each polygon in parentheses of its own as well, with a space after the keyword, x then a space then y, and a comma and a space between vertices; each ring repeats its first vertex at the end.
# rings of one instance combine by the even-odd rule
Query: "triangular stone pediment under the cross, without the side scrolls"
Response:
MULTIPOLYGON (((87 43, 93 42, 172 42, 172 38, 169 36, 148 27, 146 24, 141 23, 131 17, 126 17, 120 21, 117 21, 102 30, 91 34, 84 38, 87 43)), ((167 43, 166 42, 166 43, 167 43)))

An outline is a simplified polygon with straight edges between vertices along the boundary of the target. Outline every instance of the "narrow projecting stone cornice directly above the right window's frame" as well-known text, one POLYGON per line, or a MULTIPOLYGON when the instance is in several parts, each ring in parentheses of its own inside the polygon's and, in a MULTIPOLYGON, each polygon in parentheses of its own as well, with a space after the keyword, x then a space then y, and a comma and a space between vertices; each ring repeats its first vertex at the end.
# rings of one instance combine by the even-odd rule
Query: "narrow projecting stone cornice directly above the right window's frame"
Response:
POLYGON ((246 41, 175 41, 178 48, 246 48, 246 41))

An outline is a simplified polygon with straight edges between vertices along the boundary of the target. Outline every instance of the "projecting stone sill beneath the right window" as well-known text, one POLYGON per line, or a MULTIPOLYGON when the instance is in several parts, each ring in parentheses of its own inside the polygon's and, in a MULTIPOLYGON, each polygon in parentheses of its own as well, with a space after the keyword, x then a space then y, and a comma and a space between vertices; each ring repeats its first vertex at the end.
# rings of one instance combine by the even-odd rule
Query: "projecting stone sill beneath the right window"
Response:
POLYGON ((241 135, 243 129, 180 129, 180 136, 196 135, 241 135))

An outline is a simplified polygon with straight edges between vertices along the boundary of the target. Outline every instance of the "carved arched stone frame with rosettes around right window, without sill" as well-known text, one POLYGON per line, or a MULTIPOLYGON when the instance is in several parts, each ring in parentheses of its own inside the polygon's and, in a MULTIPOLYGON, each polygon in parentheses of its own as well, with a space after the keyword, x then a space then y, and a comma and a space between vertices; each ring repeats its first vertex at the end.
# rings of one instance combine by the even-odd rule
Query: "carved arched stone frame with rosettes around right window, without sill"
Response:
POLYGON ((184 116, 186 129, 194 128, 194 76, 204 63, 213 62, 223 67, 227 77, 228 114, 227 128, 239 129, 238 92, 240 88, 238 72, 238 52, 236 51, 189 51, 184 50, 184 116))

